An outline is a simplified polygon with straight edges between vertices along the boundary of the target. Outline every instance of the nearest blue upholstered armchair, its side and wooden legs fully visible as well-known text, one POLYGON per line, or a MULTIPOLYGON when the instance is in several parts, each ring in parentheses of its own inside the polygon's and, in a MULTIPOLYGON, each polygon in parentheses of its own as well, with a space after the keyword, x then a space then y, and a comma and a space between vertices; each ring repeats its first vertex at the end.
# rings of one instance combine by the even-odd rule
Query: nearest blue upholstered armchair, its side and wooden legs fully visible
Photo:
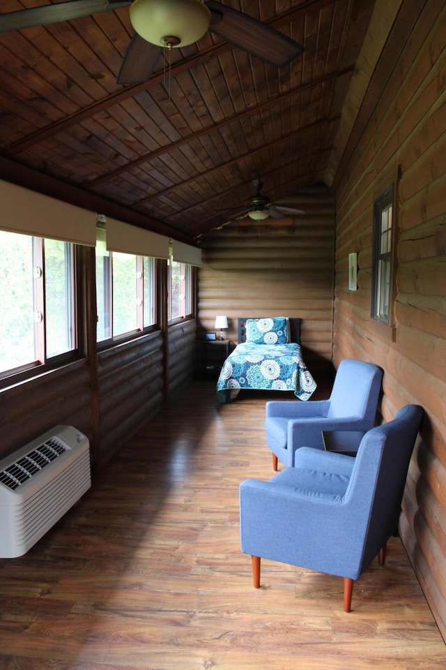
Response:
POLYGON ((353 581, 376 556, 383 565, 397 529, 421 421, 422 408, 406 405, 364 435, 356 457, 302 447, 294 468, 240 484, 240 539, 254 586, 261 558, 334 574, 344 577, 350 611, 353 581))

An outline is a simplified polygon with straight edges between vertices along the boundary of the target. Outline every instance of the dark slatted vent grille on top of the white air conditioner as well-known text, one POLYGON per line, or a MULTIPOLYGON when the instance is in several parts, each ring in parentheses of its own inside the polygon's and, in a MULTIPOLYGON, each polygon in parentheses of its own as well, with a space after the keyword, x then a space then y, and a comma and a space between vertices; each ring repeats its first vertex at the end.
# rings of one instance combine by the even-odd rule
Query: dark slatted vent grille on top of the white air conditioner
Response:
POLYGON ((40 472, 45 466, 49 466, 49 463, 52 463, 67 449, 69 447, 58 438, 49 438, 49 440, 32 449, 29 454, 25 454, 21 459, 1 470, 0 483, 14 491, 24 482, 27 482, 36 472, 40 472))

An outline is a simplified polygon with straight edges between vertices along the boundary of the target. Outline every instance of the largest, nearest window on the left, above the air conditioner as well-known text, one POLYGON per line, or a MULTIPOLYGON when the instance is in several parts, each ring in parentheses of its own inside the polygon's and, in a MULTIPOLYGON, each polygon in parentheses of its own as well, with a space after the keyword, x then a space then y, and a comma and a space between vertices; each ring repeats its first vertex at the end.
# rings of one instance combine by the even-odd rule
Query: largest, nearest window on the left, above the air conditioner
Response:
POLYGON ((0 375, 76 348, 75 269, 68 242, 0 231, 0 375))

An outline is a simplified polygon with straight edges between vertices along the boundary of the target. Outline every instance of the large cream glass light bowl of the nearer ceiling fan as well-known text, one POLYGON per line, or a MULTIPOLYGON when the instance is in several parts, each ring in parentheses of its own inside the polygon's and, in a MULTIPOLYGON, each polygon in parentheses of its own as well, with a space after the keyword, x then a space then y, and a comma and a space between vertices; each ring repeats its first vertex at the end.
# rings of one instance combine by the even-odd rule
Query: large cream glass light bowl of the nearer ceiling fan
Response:
POLYGON ((201 0, 134 0, 130 21, 137 33, 157 46, 185 47, 209 27, 210 11, 201 0))

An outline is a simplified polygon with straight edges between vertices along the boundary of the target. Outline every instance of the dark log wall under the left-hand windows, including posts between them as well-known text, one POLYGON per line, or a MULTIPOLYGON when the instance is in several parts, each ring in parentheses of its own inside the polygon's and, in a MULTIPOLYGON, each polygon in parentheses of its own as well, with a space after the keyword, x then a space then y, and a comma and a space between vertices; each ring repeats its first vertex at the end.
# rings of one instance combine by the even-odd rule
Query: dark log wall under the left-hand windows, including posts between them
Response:
POLYGON ((196 321, 167 325, 165 286, 160 329, 98 350, 95 252, 77 251, 81 357, 0 390, 0 459, 53 426, 70 424, 88 436, 95 472, 194 375, 196 321))

